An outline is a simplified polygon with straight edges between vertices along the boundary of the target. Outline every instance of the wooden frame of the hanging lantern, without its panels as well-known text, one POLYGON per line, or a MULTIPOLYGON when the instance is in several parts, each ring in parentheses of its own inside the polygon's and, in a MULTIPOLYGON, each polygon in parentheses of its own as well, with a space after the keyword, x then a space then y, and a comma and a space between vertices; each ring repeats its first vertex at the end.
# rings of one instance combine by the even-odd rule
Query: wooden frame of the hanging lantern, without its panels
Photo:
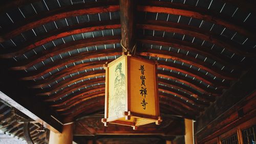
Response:
POLYGON ((160 110, 159 110, 159 97, 158 97, 158 77, 157 77, 157 63, 151 60, 147 60, 138 56, 131 56, 131 55, 122 55, 121 57, 117 58, 111 63, 106 63, 103 65, 104 69, 106 70, 105 75, 105 112, 104 118, 101 119, 101 122, 104 123, 104 126, 108 126, 108 123, 111 124, 118 124, 118 125, 125 125, 125 126, 132 126, 134 130, 137 129, 138 126, 146 125, 150 123, 156 123, 156 125, 160 125, 162 119, 160 117, 160 110), (117 62, 125 59, 125 86, 126 86, 126 107, 125 111, 123 111, 123 116, 121 117, 109 117, 109 68, 110 66, 116 64, 117 62), (131 111, 131 75, 129 73, 129 68, 131 67, 130 61, 131 59, 136 59, 139 61, 143 61, 145 63, 152 64, 154 66, 154 85, 155 85, 155 112, 156 115, 148 115, 142 114, 138 112, 131 111), (131 122, 131 119, 133 120, 131 122))

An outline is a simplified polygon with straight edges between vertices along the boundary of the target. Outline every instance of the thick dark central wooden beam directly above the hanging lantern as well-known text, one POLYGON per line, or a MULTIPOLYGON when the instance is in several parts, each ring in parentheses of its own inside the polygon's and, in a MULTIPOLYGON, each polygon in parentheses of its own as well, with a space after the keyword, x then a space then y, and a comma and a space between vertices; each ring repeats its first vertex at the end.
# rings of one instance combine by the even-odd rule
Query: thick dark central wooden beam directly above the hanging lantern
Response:
MULTIPOLYGON (((135 45, 135 14, 136 0, 119 0, 122 45, 132 52, 135 45)), ((123 50, 124 51, 124 50, 123 50)))

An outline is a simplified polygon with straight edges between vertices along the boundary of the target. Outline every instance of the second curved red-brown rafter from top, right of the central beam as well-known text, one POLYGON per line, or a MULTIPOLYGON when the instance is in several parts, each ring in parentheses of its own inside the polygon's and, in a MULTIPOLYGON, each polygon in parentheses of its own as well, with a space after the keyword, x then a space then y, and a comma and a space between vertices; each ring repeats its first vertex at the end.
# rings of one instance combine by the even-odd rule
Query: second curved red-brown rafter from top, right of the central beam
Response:
POLYGON ((244 51, 247 47, 242 44, 236 43, 224 36, 216 35, 212 32, 204 31, 193 26, 183 25, 182 23, 161 20, 143 20, 137 23, 136 27, 139 29, 173 32, 200 38, 202 40, 215 43, 234 54, 246 57, 255 57, 255 51, 244 51))

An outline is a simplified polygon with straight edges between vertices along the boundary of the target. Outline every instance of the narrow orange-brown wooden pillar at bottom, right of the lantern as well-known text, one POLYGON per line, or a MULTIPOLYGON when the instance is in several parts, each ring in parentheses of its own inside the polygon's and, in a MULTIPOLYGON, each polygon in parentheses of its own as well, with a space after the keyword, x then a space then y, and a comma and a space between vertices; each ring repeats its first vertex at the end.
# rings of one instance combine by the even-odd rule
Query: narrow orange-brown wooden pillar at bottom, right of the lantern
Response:
POLYGON ((194 125, 193 120, 185 118, 185 143, 193 144, 194 143, 194 125))

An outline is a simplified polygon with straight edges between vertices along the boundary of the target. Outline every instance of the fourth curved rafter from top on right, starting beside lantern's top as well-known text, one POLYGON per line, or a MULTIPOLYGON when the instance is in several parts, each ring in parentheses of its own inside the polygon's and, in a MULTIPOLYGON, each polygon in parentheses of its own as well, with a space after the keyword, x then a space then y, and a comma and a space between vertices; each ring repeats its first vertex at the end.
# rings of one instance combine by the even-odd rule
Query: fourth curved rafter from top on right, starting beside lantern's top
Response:
POLYGON ((164 50, 144 50, 143 52, 137 52, 137 55, 139 56, 151 56, 151 57, 159 57, 159 58, 165 58, 165 59, 172 59, 181 61, 190 65, 194 65, 196 67, 199 67, 200 69, 204 69, 205 71, 208 71, 214 76, 217 76, 219 78, 227 79, 227 80, 233 80, 234 78, 238 78, 238 75, 234 75, 232 73, 227 73, 225 71, 222 71, 221 69, 217 69, 215 67, 212 67, 211 64, 208 64, 206 62, 203 62, 201 60, 197 60, 192 57, 188 57, 185 54, 177 54, 173 52, 168 52, 164 50))

